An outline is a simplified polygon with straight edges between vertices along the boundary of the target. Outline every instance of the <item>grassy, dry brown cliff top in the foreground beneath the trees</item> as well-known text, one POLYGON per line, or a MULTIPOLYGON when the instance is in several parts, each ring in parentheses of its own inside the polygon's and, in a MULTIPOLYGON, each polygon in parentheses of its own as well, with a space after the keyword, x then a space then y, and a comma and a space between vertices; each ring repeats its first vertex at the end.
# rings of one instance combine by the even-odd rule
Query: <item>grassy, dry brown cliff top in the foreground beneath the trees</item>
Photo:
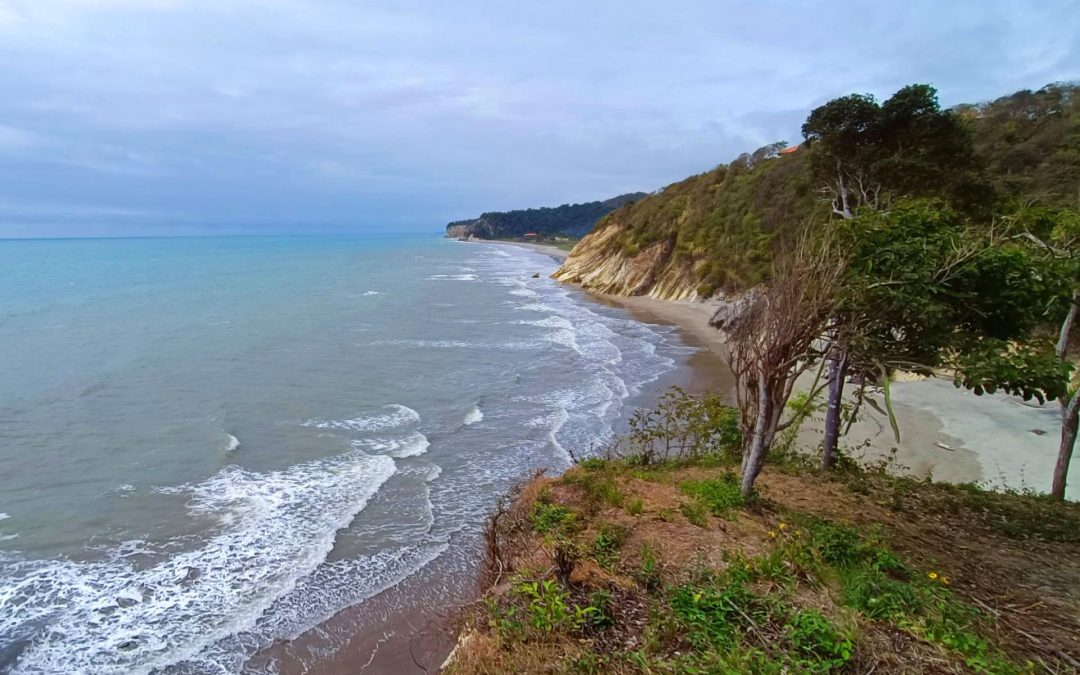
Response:
POLYGON ((737 415, 672 395, 646 416, 622 457, 492 515, 448 672, 1080 667, 1080 505, 786 454, 747 500, 737 415))

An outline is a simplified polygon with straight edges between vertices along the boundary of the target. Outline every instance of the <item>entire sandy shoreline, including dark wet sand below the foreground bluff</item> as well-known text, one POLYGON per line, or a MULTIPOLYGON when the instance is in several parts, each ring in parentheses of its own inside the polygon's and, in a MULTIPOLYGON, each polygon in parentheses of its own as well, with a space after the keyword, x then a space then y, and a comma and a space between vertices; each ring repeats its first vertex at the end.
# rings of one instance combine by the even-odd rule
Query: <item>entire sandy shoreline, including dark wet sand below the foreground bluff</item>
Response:
MULTIPOLYGON (((568 252, 545 244, 494 240, 477 243, 529 248, 558 261, 565 260, 568 255, 568 252)), ((531 271, 523 270, 523 273, 531 271)), ((612 296, 588 291, 585 298, 608 307, 623 308, 643 323, 675 326, 688 346, 699 349, 671 373, 653 382, 649 392, 643 393, 633 403, 650 406, 657 396, 673 384, 693 394, 732 391, 734 381, 725 362, 725 342, 720 333, 708 325, 708 320, 716 310, 715 302, 658 300, 645 296, 612 296)), ((1002 481, 1002 477, 1015 476, 1004 476, 1003 473, 997 476, 993 469, 987 469, 987 462, 990 458, 1007 458, 1010 450, 1017 447, 1017 436, 1023 434, 1040 441, 1050 440, 1052 444, 1056 441, 1056 430, 1045 426, 1045 421, 1050 419, 1047 411, 1026 404, 995 402, 1010 406, 1017 417, 1008 422, 993 422, 994 410, 973 406, 976 397, 955 390, 949 382, 900 382, 892 393, 903 442, 896 444, 888 420, 864 406, 862 418, 853 424, 843 446, 852 456, 867 462, 887 461, 895 457, 892 469, 906 475, 932 476, 935 481, 951 483, 987 480, 994 483, 995 477, 998 477, 999 484, 1003 483, 1004 487, 1023 488, 1023 484, 1002 481), (1040 415, 1044 435, 1037 436, 1031 433, 1034 428, 1026 427, 1034 419, 1032 416, 1040 415), (996 427, 984 429, 982 434, 973 432, 971 427, 977 428, 982 423, 981 418, 987 418, 996 427), (968 420, 967 428, 962 420, 968 420), (895 453, 893 447, 896 447, 895 453)), ((982 399, 985 401, 990 397, 982 399)), ((981 405, 985 403, 981 402, 981 405)), ((816 416, 804 424, 796 437, 799 447, 812 447, 818 443, 821 422, 820 416, 816 416)), ((999 472, 1002 470, 1000 462, 996 467, 999 472)), ((1015 467, 1010 465, 1008 469, 1015 471, 1015 467)), ((1038 484, 1043 478, 1041 473, 1037 475, 1031 472, 1027 475, 1031 481, 1039 481, 1038 484)), ((1023 483, 1023 471, 1020 478, 1023 483)), ((1045 478, 1049 482, 1049 473, 1045 478)), ((1075 490, 1070 490, 1070 497, 1075 499, 1074 492, 1075 490)), ((476 539, 475 546, 481 551, 483 542, 476 539)), ((437 565, 424 567, 395 586, 316 626, 313 630, 315 635, 348 633, 349 636, 333 658, 309 672, 315 675, 437 672, 455 647, 456 634, 453 629, 460 609, 475 599, 469 589, 476 582, 480 573, 478 565, 469 569, 451 567, 445 570, 437 565), (454 581, 447 581, 449 577, 454 577, 454 581), (415 593, 422 595, 424 588, 447 583, 457 589, 451 594, 453 602, 458 603, 457 605, 418 608, 402 602, 415 593), (366 620, 361 617, 366 617, 366 620)), ((279 652, 273 656, 281 658, 282 654, 279 652)))

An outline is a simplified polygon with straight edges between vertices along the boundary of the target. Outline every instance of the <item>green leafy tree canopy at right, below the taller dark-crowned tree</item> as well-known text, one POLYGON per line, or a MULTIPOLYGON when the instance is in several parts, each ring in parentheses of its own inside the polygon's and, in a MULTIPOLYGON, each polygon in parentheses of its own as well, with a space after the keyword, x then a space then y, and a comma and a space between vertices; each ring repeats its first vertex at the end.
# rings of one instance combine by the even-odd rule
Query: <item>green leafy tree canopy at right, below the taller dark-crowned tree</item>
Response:
MULTIPOLYGON (((1055 353, 1037 329, 1071 293, 1070 276, 1018 222, 973 227, 940 201, 906 200, 834 228, 849 264, 831 350, 843 355, 846 370, 887 384, 895 369, 947 369, 958 387, 976 394, 1063 396, 1064 351, 1055 353)), ((1059 343, 1067 343, 1067 333, 1059 343)), ((842 394, 842 382, 839 388, 842 394)), ((831 405, 835 394, 831 390, 831 405)), ((832 460, 826 445, 823 464, 832 460)))

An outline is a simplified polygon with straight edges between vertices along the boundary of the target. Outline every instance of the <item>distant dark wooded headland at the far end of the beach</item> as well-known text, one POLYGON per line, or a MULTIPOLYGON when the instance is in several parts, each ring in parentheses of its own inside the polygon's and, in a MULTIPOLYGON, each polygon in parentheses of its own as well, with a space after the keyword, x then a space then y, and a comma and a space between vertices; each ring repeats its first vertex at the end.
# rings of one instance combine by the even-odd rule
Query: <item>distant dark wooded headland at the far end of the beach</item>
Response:
POLYGON ((450 222, 446 226, 446 237, 454 239, 519 239, 526 232, 534 232, 541 238, 578 238, 589 232, 597 220, 616 208, 644 197, 646 197, 644 192, 631 192, 603 202, 489 212, 471 220, 450 222))

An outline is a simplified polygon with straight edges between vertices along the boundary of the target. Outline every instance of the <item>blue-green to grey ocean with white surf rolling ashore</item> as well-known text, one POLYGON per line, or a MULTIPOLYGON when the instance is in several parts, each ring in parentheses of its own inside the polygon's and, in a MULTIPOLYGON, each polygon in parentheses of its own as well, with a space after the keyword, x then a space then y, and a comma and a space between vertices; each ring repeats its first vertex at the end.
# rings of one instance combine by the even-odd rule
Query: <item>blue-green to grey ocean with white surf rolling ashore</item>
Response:
POLYGON ((693 351, 556 265, 0 242, 0 672, 303 671, 337 638, 266 654, 417 573, 453 596, 498 495, 603 447, 693 351))

